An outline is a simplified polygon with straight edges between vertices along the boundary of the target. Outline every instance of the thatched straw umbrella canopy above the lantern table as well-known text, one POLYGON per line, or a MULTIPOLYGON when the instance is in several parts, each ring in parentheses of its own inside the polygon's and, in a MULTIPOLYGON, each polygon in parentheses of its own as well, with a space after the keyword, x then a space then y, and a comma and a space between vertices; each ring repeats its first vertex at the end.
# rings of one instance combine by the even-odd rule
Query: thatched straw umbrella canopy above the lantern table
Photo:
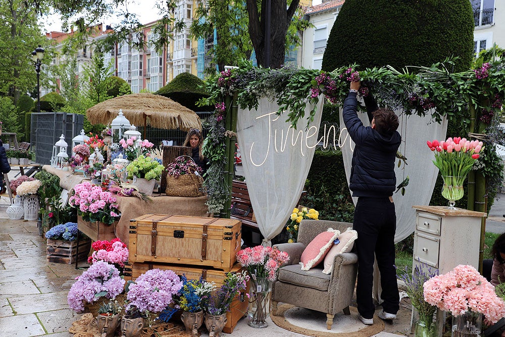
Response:
POLYGON ((201 130, 200 118, 194 111, 169 98, 152 93, 132 93, 115 97, 89 108, 86 110, 86 116, 91 124, 108 125, 116 118, 120 109, 131 124, 143 125, 144 132, 147 124, 168 130, 201 130))

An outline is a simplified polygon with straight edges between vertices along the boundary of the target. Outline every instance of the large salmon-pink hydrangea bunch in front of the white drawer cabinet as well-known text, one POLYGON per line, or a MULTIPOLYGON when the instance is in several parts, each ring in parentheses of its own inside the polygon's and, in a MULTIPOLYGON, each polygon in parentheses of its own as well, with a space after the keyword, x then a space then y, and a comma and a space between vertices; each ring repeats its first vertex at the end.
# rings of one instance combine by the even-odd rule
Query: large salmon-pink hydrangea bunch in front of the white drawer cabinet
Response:
POLYGON ((483 314, 496 323, 505 316, 505 302, 494 287, 472 266, 459 265, 446 274, 424 282, 424 300, 453 316, 467 311, 483 314))

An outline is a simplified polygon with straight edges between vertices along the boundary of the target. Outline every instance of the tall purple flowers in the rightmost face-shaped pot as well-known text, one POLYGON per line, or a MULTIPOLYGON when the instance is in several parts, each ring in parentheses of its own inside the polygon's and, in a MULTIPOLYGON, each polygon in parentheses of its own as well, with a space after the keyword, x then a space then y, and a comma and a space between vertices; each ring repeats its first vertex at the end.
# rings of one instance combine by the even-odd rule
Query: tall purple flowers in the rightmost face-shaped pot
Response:
POLYGON ((219 337, 227 319, 226 313, 230 310, 233 299, 244 291, 249 276, 245 271, 240 273, 226 273, 224 284, 212 295, 204 306, 205 326, 209 330, 209 335, 219 337))

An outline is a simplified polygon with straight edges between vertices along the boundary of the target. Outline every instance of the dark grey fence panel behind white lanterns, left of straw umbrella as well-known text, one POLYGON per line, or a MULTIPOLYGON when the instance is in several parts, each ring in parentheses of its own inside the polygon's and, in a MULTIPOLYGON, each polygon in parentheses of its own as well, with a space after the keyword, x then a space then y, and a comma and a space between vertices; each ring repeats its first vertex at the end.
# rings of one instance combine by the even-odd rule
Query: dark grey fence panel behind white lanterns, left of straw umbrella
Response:
POLYGON ((53 146, 63 134, 72 152, 72 138, 83 128, 84 116, 66 112, 41 112, 31 114, 31 150, 39 164, 51 164, 53 146))

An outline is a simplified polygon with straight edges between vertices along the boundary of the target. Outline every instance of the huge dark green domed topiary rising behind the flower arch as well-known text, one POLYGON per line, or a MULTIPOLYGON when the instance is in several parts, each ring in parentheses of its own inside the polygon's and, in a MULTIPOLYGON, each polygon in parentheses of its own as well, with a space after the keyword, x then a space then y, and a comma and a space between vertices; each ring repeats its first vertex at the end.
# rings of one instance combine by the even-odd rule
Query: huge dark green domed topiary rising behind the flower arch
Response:
POLYGON ((322 69, 430 66, 458 56, 473 62, 474 19, 468 0, 346 0, 331 29, 322 69))

